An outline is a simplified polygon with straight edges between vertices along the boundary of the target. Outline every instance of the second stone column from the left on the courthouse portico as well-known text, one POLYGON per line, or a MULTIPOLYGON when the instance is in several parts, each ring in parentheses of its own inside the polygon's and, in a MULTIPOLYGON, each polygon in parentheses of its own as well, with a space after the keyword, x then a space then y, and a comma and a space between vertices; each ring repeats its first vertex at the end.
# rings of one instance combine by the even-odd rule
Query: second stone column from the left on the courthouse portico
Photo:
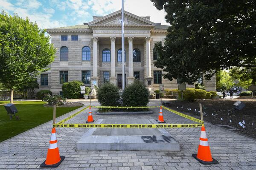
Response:
POLYGON ((116 37, 110 37, 111 40, 111 77, 110 82, 116 85, 116 37))

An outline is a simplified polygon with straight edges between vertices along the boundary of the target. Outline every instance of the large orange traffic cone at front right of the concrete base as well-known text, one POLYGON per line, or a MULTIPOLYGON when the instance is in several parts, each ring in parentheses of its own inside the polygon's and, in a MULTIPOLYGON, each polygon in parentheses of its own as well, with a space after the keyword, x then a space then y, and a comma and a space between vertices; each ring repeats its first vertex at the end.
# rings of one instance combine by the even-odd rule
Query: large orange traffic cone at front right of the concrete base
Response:
POLYGON ((204 126, 202 126, 199 140, 198 154, 192 154, 192 156, 201 164, 218 164, 218 161, 212 158, 204 126))

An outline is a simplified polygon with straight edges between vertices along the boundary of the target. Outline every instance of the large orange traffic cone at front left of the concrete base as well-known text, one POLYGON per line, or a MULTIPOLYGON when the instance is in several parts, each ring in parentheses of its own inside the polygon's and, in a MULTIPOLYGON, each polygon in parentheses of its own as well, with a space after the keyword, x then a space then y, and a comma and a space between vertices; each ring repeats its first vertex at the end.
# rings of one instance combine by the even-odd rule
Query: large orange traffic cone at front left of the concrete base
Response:
POLYGON ((60 156, 58 151, 55 127, 52 128, 52 135, 49 143, 50 145, 47 152, 46 161, 44 161, 40 167, 58 167, 65 158, 65 156, 60 156))

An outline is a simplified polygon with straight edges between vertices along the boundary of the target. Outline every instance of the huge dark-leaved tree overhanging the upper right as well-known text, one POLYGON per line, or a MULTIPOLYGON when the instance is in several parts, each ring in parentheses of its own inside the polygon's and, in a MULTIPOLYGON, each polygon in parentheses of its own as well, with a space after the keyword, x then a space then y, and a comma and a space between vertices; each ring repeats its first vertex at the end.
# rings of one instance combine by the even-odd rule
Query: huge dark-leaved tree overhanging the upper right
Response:
POLYGON ((171 24, 155 44, 164 78, 193 84, 202 74, 209 80, 233 66, 256 67, 256 1, 151 1, 171 24))

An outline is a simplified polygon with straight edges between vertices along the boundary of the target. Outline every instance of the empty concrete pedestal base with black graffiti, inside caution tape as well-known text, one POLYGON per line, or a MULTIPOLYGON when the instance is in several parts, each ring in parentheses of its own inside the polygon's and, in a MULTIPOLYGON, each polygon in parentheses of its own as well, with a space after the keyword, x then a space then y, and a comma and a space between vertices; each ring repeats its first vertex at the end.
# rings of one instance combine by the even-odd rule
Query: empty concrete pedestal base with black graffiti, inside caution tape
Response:
MULTIPOLYGON (((154 119, 99 119, 95 124, 158 124, 154 119)), ((163 128, 91 128, 76 143, 77 150, 180 151, 163 128)))

